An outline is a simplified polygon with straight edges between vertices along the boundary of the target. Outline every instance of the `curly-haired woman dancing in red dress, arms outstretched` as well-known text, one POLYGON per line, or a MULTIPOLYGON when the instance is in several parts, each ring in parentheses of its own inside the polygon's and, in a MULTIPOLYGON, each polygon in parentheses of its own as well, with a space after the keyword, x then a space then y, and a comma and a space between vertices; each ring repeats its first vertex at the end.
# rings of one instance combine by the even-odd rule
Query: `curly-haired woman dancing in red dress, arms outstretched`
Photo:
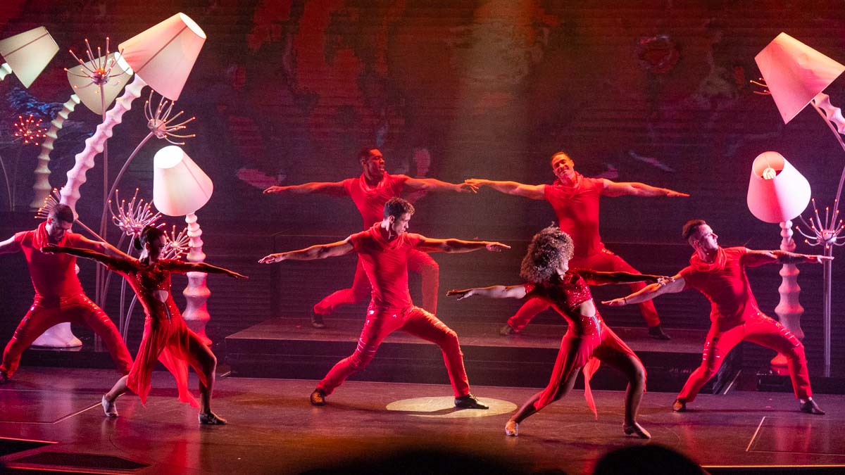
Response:
MULTIPOLYGON (((450 290, 458 300, 480 295, 488 298, 540 298, 569 323, 558 358, 554 362, 552 379, 546 389, 528 398, 504 426, 504 433, 517 435, 519 424, 534 412, 566 396, 575 385, 578 372, 584 369, 584 396, 587 405, 597 415, 592 399, 590 378, 600 362, 608 363, 628 377, 625 392, 625 434, 651 439, 651 434, 636 422, 642 392, 646 389, 646 369, 640 358, 625 345, 613 330, 604 325, 592 300, 588 285, 630 282, 662 282, 668 277, 647 276, 630 272, 601 272, 570 270, 573 254, 572 238, 558 227, 547 227, 534 235, 528 253, 522 259, 521 276, 531 283, 518 286, 475 287, 450 290)), ((598 416, 597 416, 598 417, 598 416)))

